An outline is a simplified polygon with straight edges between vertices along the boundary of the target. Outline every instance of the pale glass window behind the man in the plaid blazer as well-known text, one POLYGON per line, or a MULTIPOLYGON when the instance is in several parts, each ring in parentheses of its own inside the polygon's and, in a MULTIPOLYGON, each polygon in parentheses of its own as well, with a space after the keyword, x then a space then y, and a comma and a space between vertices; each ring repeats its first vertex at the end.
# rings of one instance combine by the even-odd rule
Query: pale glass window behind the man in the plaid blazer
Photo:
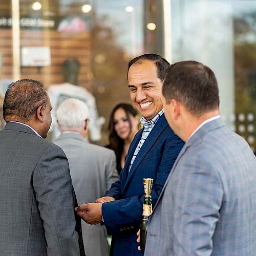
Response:
POLYGON ((172 1, 173 62, 193 59, 216 74, 220 110, 256 148, 256 2, 172 1))

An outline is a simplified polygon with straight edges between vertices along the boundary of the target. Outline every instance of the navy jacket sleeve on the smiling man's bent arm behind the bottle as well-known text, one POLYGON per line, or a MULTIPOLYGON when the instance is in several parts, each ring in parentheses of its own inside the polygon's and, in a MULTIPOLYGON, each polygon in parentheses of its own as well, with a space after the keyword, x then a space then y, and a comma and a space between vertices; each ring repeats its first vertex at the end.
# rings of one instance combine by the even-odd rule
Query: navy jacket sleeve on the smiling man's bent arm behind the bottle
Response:
MULTIPOLYGON (((174 134, 165 140, 160 165, 156 170, 156 182, 152 190, 153 206, 157 202, 165 180, 183 145, 184 142, 174 134)), ((143 201, 144 194, 141 194, 102 204, 102 216, 108 232, 116 233, 130 228, 137 228, 141 220, 143 201)))

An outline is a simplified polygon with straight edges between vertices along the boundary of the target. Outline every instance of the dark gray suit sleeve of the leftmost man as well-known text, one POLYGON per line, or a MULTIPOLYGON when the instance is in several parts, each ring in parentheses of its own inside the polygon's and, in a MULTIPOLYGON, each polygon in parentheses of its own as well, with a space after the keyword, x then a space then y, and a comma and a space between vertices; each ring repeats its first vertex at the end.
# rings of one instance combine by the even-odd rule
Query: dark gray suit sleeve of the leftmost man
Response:
POLYGON ((80 255, 68 160, 52 145, 40 157, 33 187, 45 228, 48 255, 80 255))

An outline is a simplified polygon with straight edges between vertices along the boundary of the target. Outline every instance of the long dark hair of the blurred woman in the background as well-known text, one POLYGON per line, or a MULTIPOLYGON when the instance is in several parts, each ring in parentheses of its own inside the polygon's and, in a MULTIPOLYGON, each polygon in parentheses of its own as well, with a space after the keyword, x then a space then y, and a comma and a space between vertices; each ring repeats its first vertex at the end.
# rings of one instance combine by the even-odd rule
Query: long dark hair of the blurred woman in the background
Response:
POLYGON ((131 124, 129 114, 132 116, 138 115, 137 111, 133 108, 133 106, 131 104, 127 104, 127 103, 119 103, 112 110, 111 115, 110 115, 110 121, 109 121, 109 131, 110 131, 110 138, 109 138, 110 146, 109 147, 115 151, 117 156, 119 156, 119 154, 123 151, 123 140, 117 135, 117 133, 115 131, 115 127, 114 127, 115 126, 114 125, 114 115, 118 109, 124 110, 124 112, 126 114, 126 118, 128 119, 128 121, 130 123, 130 132, 132 129, 132 124, 131 124))

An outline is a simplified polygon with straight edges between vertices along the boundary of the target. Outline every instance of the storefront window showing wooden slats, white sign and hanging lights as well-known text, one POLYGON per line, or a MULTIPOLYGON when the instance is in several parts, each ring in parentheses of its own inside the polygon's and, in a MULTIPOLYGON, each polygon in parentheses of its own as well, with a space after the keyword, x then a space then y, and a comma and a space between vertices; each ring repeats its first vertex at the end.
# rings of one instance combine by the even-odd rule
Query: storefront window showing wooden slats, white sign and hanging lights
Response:
POLYGON ((105 118, 102 139, 96 142, 106 144, 111 109, 116 103, 130 102, 127 62, 153 49, 154 44, 146 42, 160 31, 145 28, 156 12, 153 4, 142 0, 1 1, 1 97, 7 85, 19 78, 40 80, 46 88, 69 80, 96 98, 99 115, 105 118), (14 18, 19 26, 14 26, 14 18), (70 70, 67 61, 73 63, 70 70))

